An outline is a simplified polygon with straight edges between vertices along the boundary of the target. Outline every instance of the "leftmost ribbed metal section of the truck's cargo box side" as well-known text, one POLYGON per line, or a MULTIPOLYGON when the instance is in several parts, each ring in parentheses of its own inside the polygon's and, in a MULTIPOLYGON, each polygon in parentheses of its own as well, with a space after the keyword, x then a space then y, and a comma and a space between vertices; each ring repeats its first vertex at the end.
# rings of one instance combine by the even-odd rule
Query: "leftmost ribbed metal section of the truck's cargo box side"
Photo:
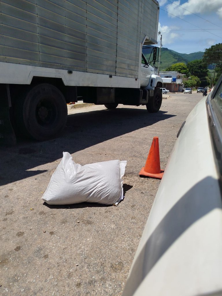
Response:
POLYGON ((39 66, 36 4, 0 1, 0 61, 39 66))

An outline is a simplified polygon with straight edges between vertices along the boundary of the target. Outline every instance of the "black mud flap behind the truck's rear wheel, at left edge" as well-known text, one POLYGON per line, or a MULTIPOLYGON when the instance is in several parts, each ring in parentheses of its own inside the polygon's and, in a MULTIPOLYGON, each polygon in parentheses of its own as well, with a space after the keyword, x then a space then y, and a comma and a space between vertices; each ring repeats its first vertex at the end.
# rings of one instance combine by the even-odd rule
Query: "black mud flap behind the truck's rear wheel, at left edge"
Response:
POLYGON ((11 107, 9 86, 1 87, 0 96, 0 145, 15 145, 16 137, 9 117, 11 107))

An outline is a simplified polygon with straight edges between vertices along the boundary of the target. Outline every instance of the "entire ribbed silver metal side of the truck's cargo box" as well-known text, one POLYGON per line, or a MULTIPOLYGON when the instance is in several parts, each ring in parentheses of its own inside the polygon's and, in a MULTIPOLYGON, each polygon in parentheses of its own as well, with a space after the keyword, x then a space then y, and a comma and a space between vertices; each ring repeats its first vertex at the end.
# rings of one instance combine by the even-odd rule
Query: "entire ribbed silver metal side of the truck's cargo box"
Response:
POLYGON ((155 0, 0 0, 0 62, 138 77, 155 0))

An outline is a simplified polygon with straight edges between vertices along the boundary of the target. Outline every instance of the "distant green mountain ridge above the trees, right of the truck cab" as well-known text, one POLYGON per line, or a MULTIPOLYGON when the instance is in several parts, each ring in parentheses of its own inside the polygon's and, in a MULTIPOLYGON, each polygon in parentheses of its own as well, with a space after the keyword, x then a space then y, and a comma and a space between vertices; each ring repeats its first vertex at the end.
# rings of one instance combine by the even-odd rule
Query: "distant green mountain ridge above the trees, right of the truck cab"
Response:
POLYGON ((168 49, 166 47, 162 47, 161 57, 160 57, 160 71, 165 70, 165 68, 170 67, 172 64, 175 64, 175 63, 187 64, 188 62, 191 62, 194 59, 202 59, 203 54, 204 54, 203 52, 192 52, 190 54, 181 54, 179 52, 175 52, 174 50, 168 49))

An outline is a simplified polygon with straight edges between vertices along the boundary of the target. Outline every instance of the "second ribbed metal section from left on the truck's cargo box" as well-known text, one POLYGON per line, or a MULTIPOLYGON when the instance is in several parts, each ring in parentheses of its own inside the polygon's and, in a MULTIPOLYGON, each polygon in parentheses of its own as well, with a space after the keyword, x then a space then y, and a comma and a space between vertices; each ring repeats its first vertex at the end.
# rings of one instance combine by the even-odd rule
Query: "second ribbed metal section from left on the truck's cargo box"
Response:
POLYGON ((86 72, 86 3, 36 2, 40 65, 86 72))

